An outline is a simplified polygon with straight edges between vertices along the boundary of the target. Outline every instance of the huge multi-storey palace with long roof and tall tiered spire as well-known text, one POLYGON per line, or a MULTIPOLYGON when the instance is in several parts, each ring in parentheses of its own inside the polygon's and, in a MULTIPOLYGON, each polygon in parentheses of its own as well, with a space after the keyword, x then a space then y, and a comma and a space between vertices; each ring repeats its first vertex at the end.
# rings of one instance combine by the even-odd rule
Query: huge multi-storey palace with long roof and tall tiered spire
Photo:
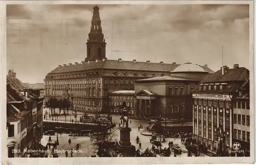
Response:
MULTIPOLYGON (((81 63, 63 64, 46 76, 45 98, 71 98, 75 109, 84 111, 109 111, 114 91, 134 90, 134 81, 169 75, 179 65, 175 62, 151 63, 108 60, 105 54, 106 42, 101 28, 99 8, 94 7, 87 57, 81 63)), ((206 72, 212 72, 207 65, 200 66, 206 72)), ((135 105, 133 105, 135 107, 135 105)))

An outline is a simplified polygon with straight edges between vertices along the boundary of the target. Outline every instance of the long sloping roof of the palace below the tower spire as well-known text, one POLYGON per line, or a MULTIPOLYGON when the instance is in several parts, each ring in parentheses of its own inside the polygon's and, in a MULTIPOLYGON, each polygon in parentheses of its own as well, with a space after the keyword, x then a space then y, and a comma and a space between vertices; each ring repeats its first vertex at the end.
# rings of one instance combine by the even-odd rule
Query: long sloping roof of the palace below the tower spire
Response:
MULTIPOLYGON (((104 61, 91 61, 90 63, 84 62, 81 64, 73 64, 60 66, 53 69, 48 74, 54 73, 66 73, 75 72, 91 69, 118 69, 118 70, 142 70, 142 71, 159 71, 159 72, 170 72, 173 71, 178 64, 164 64, 164 63, 147 63, 147 62, 133 62, 133 61, 119 61, 119 60, 104 60, 104 61)), ((202 67, 205 71, 213 73, 207 67, 202 67)))

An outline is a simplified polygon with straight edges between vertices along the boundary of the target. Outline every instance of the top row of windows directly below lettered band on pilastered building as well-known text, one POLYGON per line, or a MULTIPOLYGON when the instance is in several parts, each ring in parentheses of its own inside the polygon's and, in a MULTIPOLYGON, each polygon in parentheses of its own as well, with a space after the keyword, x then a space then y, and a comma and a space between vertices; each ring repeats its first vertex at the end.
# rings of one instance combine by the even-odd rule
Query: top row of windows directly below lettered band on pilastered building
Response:
POLYGON ((217 107, 218 103, 219 103, 220 107, 224 108, 224 105, 225 105, 225 108, 231 108, 230 101, 223 101, 223 100, 194 99, 194 103, 195 103, 195 105, 204 105, 204 106, 207 106, 207 105, 212 106, 212 103, 213 103, 214 107, 217 107))

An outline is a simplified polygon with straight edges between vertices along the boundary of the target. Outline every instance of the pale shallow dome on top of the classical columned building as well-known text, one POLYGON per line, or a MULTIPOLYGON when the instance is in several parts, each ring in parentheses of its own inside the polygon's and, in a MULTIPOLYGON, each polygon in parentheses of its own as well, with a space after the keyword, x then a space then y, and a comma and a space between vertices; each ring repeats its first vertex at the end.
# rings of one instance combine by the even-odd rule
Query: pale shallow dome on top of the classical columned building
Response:
POLYGON ((197 64, 185 63, 174 69, 172 72, 206 72, 197 64))

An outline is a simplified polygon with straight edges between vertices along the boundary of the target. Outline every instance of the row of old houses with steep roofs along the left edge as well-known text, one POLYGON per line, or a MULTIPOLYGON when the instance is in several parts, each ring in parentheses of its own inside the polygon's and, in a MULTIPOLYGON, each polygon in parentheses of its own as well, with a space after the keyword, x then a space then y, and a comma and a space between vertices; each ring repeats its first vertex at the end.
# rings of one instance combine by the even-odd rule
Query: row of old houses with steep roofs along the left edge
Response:
POLYGON ((7 150, 8 157, 24 157, 25 149, 40 148, 42 137, 42 102, 16 73, 7 76, 7 150), (16 149, 20 152, 13 152, 16 149))

